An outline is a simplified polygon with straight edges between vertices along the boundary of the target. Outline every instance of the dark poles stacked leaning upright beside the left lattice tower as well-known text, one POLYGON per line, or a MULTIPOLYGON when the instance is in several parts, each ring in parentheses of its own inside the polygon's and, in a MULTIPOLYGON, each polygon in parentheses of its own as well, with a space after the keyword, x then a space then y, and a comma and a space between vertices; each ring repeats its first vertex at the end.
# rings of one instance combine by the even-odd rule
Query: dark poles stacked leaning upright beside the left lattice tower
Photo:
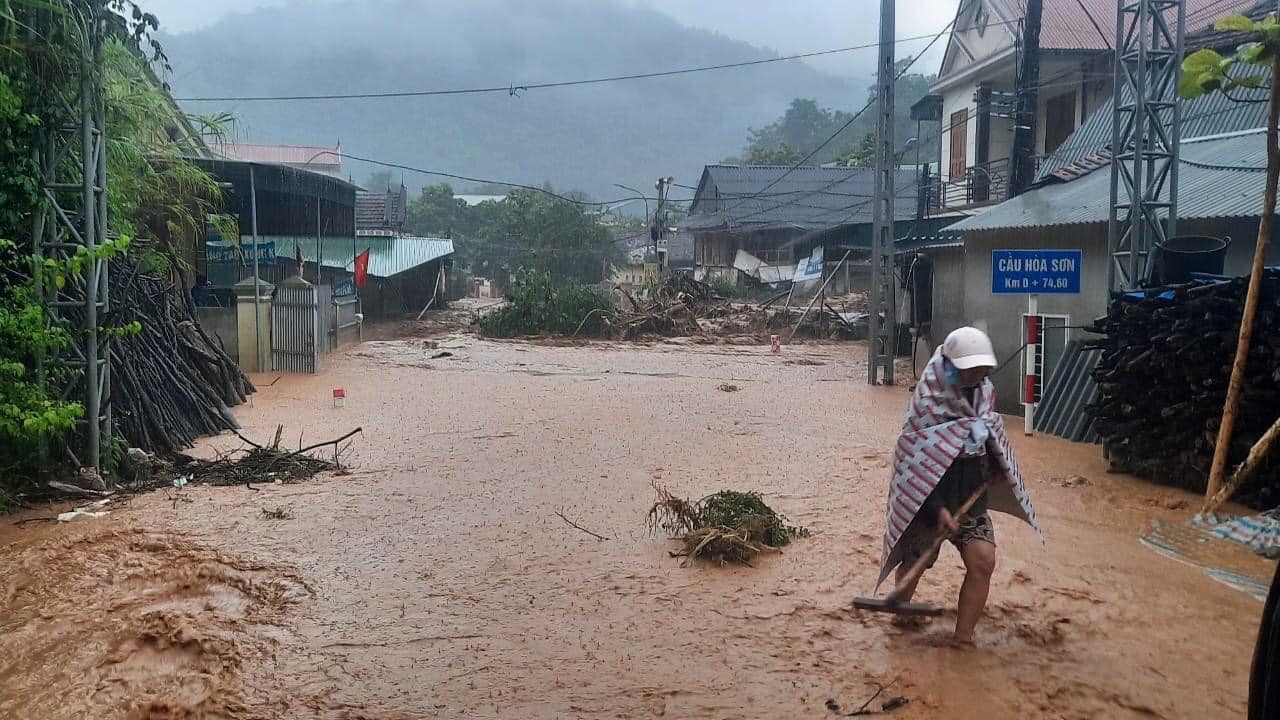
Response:
POLYGON ((198 437, 239 428, 230 409, 253 384, 201 329, 191 293, 131 259, 116 259, 110 295, 111 325, 142 325, 110 343, 111 413, 125 442, 175 452, 198 437))

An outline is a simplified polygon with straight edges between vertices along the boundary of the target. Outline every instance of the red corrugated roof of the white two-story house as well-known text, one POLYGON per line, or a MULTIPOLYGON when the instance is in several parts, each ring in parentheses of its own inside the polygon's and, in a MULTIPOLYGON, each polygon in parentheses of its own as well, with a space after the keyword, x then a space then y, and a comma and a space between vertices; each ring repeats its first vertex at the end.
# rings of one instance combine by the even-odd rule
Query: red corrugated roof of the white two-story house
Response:
MULTIPOLYGON (((1011 22, 1027 14, 1027 0, 991 1, 1011 22)), ((1219 18, 1249 9, 1257 1, 1187 0, 1187 32, 1210 27, 1219 18)), ((1110 50, 1115 42, 1115 0, 1044 0, 1042 13, 1043 50, 1110 50)))

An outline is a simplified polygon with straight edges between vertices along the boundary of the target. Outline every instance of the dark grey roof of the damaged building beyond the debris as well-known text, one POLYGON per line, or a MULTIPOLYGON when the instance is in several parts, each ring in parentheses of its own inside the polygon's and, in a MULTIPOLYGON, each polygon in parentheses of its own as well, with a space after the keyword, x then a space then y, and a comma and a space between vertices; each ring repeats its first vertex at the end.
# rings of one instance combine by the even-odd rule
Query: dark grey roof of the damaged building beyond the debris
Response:
MULTIPOLYGON (((823 229, 872 222, 874 170, 707 165, 681 229, 823 229)), ((915 173, 897 172, 895 215, 915 217, 915 173)))

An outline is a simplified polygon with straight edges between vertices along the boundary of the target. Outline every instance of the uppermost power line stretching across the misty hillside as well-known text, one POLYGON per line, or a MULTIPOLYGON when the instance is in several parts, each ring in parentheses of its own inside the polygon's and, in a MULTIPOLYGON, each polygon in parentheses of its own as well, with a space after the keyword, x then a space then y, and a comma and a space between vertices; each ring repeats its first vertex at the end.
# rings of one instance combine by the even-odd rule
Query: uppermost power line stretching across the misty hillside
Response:
MULTIPOLYGON (((1002 23, 1007 24, 1007 23, 1002 23)), ((947 26, 950 27, 950 26, 947 26)), ((927 40, 931 36, 920 35, 915 37, 904 37, 896 42, 913 42, 916 40, 927 40)), ((929 44, 933 45, 932 42, 929 44)), ((652 73, 632 73, 623 76, 609 76, 600 78, 588 78, 588 79, 570 79, 570 81, 557 81, 557 82, 534 82, 522 85, 504 85, 504 86, 489 86, 489 87, 466 87, 466 88, 452 88, 452 90, 406 90, 406 91, 392 91, 392 92, 342 92, 333 95, 253 95, 253 96, 201 96, 201 97, 175 97, 174 100, 182 102, 264 102, 264 101, 296 101, 296 100, 364 100, 364 99, 376 99, 376 97, 433 97, 440 95, 484 95, 506 92, 511 96, 516 96, 527 90, 547 90, 550 87, 575 87, 580 85, 600 85, 607 82, 622 82, 631 79, 648 79, 659 77, 672 77, 684 76, 690 73, 704 73, 710 70, 727 70, 732 68, 746 68, 753 65, 765 65, 769 63, 782 63, 786 60, 801 60, 805 58, 818 58, 822 55, 835 55, 837 53, 851 53, 854 50, 867 50, 870 47, 878 47, 878 42, 870 42, 867 45, 851 45, 849 47, 836 47, 833 50, 818 50, 815 53, 800 53, 796 55, 783 55, 780 58, 760 58, 756 60, 744 60, 741 63, 722 63, 718 65, 699 65, 694 68, 678 68, 673 70, 658 70, 652 73)), ((925 49, 928 51, 928 47, 925 49)))

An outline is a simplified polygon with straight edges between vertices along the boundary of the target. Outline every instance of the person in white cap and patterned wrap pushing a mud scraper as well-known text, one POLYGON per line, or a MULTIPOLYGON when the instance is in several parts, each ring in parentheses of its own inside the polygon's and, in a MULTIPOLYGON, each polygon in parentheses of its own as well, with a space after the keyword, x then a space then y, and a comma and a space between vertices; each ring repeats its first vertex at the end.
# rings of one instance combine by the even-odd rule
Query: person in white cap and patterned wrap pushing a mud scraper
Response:
MULTIPOLYGON (((952 332, 934 351, 897 441, 884 528, 879 583, 897 568, 900 585, 908 569, 932 551, 938 533, 948 533, 965 565, 954 635, 964 644, 974 642, 996 568, 988 510, 1021 518, 1039 533, 1004 418, 996 413, 996 391, 987 379, 995 366, 991 338, 978 328, 952 332), (978 491, 982 495, 969 512, 956 516, 978 491)), ((936 560, 934 552, 928 566, 936 560)), ((918 582, 919 577, 905 587, 902 602, 918 582)))

